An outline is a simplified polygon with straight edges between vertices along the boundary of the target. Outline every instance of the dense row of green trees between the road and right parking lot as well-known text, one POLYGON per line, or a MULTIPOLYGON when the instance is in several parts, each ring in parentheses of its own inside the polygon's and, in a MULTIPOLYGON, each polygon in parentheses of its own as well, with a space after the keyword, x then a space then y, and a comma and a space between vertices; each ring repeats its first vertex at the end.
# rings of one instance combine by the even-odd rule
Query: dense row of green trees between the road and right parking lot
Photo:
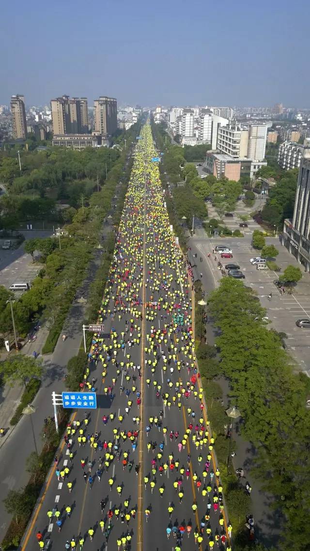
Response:
POLYGON ((253 473, 284 514, 280 549, 304 551, 310 541, 310 381, 293 372, 252 289, 223 278, 210 295, 209 314, 220 330, 221 371, 242 413, 243 434, 256 447, 253 473))

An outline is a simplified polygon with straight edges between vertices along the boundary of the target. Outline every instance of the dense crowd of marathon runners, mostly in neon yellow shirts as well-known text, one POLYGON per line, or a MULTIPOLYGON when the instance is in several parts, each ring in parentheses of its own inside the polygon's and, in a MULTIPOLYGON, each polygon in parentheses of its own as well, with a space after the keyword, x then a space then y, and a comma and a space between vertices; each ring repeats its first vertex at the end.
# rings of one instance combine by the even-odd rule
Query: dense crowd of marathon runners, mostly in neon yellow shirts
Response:
MULTIPOLYGON (((101 484, 107 495, 92 505, 94 522, 84 526, 81 514, 72 537, 57 540, 60 548, 82 551, 93 538, 100 546, 113 541, 118 551, 131 548, 143 498, 145 530, 163 531, 172 540, 167 548, 195 543, 230 551, 232 527, 195 363, 190 274, 169 225, 148 124, 141 137, 98 312, 105 334, 94 335, 81 381, 104 407, 97 422, 85 414, 67 426, 66 453, 55 458, 63 488, 46 511, 47 526, 68 526, 77 485, 86 496, 101 484), (142 484, 142 495, 131 495, 128 480, 130 488, 142 484)), ((36 532, 40 548, 54 537, 47 530, 36 532)))

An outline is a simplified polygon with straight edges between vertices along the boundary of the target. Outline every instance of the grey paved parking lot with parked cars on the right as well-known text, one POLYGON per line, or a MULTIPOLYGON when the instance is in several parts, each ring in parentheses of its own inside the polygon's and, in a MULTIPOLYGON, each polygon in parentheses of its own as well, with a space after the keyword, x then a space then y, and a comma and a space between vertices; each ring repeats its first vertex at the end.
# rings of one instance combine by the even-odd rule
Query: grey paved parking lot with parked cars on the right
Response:
MULTIPOLYGON (((279 240, 268 238, 266 243, 273 243, 279 250, 276 263, 281 267, 281 272, 288 264, 298 266, 296 259, 288 253, 285 247, 281 246, 279 240)), ((310 318, 309 274, 303 272, 303 279, 297 284, 296 288, 293 288, 292 294, 280 295, 274 280, 279 278, 281 272, 258 271, 250 263, 250 258, 258 256, 258 251, 251 246, 250 237, 244 237, 242 240, 232 238, 210 240, 207 237, 205 239, 194 237, 190 240, 190 246, 192 246, 193 252, 197 250, 197 253, 203 258, 202 266, 211 271, 212 277, 209 277, 211 287, 214 287, 220 279, 220 272, 217 269, 218 260, 221 260, 222 264, 231 262, 239 264, 240 270, 245 275, 243 282, 258 293, 261 305, 267 310, 266 316, 269 318, 270 326, 274 327, 276 331, 286 333, 287 351, 296 360, 299 369, 310 376, 310 327, 301 328, 296 326, 296 320, 299 318, 310 318), (233 258, 222 259, 218 253, 212 254, 212 249, 216 245, 230 247, 233 258), (210 257, 207 256, 208 253, 211 253, 210 257), (269 301, 268 295, 270 292, 272 298, 269 301)), ((303 271, 302 266, 301 269, 303 271)))

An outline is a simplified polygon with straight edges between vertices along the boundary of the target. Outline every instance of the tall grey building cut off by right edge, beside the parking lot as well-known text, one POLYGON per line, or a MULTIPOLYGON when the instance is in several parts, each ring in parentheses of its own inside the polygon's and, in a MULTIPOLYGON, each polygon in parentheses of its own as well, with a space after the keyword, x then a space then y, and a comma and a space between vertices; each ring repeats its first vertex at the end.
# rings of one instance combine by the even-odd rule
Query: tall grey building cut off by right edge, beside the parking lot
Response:
POLYGON ((304 149, 298 174, 293 219, 284 221, 282 245, 310 271, 310 149, 304 149))

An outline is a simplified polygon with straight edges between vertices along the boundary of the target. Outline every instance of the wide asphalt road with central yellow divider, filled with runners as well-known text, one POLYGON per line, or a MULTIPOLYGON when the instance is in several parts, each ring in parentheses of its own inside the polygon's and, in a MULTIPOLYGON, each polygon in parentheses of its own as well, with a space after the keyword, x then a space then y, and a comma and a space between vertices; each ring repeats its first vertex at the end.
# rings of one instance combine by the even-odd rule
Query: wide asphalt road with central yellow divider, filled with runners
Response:
MULTIPOLYGON (((213 497, 216 499, 218 496, 218 488, 216 476, 211 480, 211 474, 216 471, 212 452, 209 472, 205 477, 202 474, 211 445, 210 428, 205 442, 196 445, 193 438, 196 424, 199 425, 196 432, 199 434, 201 430, 202 437, 208 425, 205 410, 201 412, 200 404, 203 402, 199 397, 199 381, 194 385, 190 382, 190 377, 194 375, 190 283, 183 256, 169 228, 158 168, 151 162, 156 152, 148 125, 143 129, 142 136, 132 169, 109 284, 99 312, 99 318, 105 323, 105 334, 110 334, 110 337, 99 338, 94 343, 95 347, 99 345, 97 350, 102 361, 98 361, 97 366, 94 361, 89 364, 88 380, 95 377, 98 409, 89 413, 87 426, 83 422, 84 412, 77 410, 74 413, 74 422, 79 420, 81 425, 79 428, 76 426, 76 434, 69 436, 72 462, 65 443, 59 456, 59 466, 67 465, 70 473, 63 482, 58 482, 55 466, 51 469, 44 494, 24 538, 23 551, 38 549, 38 531, 43 534, 45 548, 57 551, 65 549, 66 542, 71 540, 72 545, 75 543, 79 549, 81 537, 84 538, 84 549, 117 549, 117 540, 121 541, 126 536, 129 538, 121 541, 120 549, 157 551, 176 549, 179 544, 182 549, 190 550, 195 547, 194 532, 200 531, 201 520, 205 522, 205 528, 198 548, 209 548, 209 541, 215 542, 216 534, 219 537, 222 533, 226 535, 226 520, 223 519, 225 523, 221 528, 220 513, 213 511, 213 497), (122 348, 124 344, 125 348, 122 348), (107 356, 110 360, 106 359, 107 356), (141 366, 141 378, 136 366, 141 366), (113 379, 116 379, 115 384, 113 379), (109 386, 113 387, 111 395, 105 391, 109 386), (121 387, 124 387, 122 392, 121 387), (185 391, 188 387, 187 395, 185 391), (142 399, 139 406, 137 392, 142 399), (127 415, 125 407, 128 401, 132 404, 127 415), (109 417, 110 414, 114 415, 114 419, 109 418, 104 425, 103 415, 109 417), (124 419, 119 420, 119 415, 124 419), (138 425, 133 421, 136 417, 140 418, 138 425), (194 427, 191 431, 188 429, 186 434, 191 421, 194 427), (150 430, 147 433, 148 426, 150 430), (116 444, 119 446, 117 451, 122 452, 120 461, 115 457, 116 452, 113 453, 114 458, 108 461, 108 468, 104 467, 100 482, 95 473, 99 468, 99 458, 105 461, 105 450, 95 451, 89 444, 79 447, 77 436, 81 428, 85 436, 98 432, 101 442, 110 442, 112 451, 116 444), (166 434, 164 429, 167 429, 166 434), (127 434, 129 431, 133 433, 133 430, 139 433, 134 442, 135 450, 129 437, 124 439, 121 436, 122 431, 127 434), (174 431, 172 441, 170 431, 174 431), (115 432, 118 439, 115 439, 115 432), (148 445, 150 443, 151 446, 148 445), (163 451, 159 447, 161 443, 163 451), (128 460, 133 461, 131 472, 128 464, 123 467, 124 452, 128 453, 128 460), (81 467, 82 459, 85 461, 84 469, 81 467), (83 472, 88 473, 89 461, 92 462, 90 473, 94 475, 92 488, 83 478, 83 472), (137 473, 135 467, 139 467, 137 473), (163 474, 160 473, 162 467, 163 474), (182 479, 180 471, 183 468, 182 479), (187 468, 190 471, 188 477, 187 468), (111 478, 114 483, 110 490, 111 478), (180 488, 176 490, 174 483, 178 480, 180 488), (201 481, 200 488, 197 480, 201 481), (71 493, 67 482, 72 482, 71 493), (155 483, 153 491, 151 482, 155 483), (119 485, 120 495, 117 491, 119 485), (210 496, 203 497, 202 489, 209 485, 210 496), (164 489, 162 496, 159 488, 164 489), (183 499, 178 495, 180 489, 183 499), (102 512, 101 500, 105 501, 102 512), (129 503, 125 504, 125 500, 129 503), (192 509, 193 503, 197 505, 196 511, 192 509), (205 520, 208 503, 211 505, 210 518, 205 520), (70 517, 66 514, 67 506, 72 510, 70 517), (173 507, 171 516, 169 506, 173 507), (56 507, 61 512, 60 532, 56 517, 49 520, 47 516, 47 512, 56 507), (108 535, 104 531, 109 524, 109 509, 114 515, 108 535), (129 513, 128 523, 126 519, 124 522, 121 518, 117 520, 117 509, 124 514, 129 513), (148 521, 146 509, 150 512, 148 521), (102 520, 105 526, 101 530, 102 520), (167 537, 167 528, 173 530, 173 527, 181 527, 181 531, 184 527, 184 536, 179 541, 173 533, 167 537), (88 535, 89 528, 94 530, 93 542, 88 535), (187 530, 190 531, 189 537, 187 530)), ((226 545, 220 543, 219 548, 226 549, 226 545)))

